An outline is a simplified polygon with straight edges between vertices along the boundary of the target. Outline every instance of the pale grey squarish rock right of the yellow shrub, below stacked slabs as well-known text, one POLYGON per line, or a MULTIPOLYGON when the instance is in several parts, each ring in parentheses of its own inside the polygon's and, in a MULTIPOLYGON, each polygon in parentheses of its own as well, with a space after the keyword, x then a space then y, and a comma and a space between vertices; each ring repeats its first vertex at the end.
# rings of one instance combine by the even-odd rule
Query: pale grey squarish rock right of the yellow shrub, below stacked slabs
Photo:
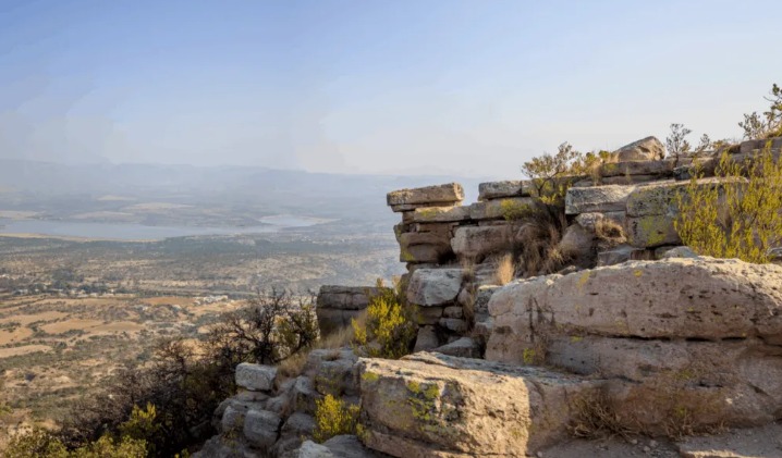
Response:
POLYGON ((418 269, 410 278, 407 300, 418 306, 442 306, 462 289, 462 269, 418 269))

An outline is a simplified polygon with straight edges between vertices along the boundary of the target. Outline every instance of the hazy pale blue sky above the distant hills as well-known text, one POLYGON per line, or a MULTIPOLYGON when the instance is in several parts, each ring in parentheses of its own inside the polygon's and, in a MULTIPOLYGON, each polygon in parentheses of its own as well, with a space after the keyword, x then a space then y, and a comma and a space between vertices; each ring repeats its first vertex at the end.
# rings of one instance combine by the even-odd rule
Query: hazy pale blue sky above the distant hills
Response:
POLYGON ((514 177, 737 137, 782 1, 0 0, 0 158, 514 177))

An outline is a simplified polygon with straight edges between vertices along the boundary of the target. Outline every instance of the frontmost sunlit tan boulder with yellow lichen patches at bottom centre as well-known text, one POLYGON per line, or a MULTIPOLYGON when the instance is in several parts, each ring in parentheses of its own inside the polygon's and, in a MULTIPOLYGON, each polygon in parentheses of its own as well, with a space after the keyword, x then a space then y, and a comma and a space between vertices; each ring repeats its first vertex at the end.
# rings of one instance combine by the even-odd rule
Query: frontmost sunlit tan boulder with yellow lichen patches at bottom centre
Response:
POLYGON ((436 354, 359 366, 366 444, 405 458, 534 454, 563 435, 569 398, 600 384, 436 354))

